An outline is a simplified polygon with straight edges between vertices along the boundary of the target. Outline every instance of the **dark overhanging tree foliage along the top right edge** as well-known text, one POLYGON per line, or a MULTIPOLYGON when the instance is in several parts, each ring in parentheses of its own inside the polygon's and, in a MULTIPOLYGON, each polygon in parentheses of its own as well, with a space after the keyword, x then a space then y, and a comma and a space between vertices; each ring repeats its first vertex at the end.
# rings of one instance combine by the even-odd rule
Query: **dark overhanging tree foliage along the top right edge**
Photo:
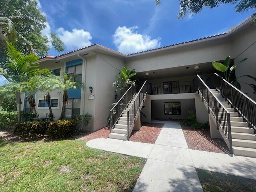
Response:
MULTIPOLYGON (((158 6, 161 4, 161 0, 155 0, 155 2, 158 6)), ((214 8, 220 4, 236 4, 235 10, 238 13, 248 11, 249 9, 256 9, 255 0, 180 0, 178 18, 182 19, 188 12, 193 15, 202 11, 204 7, 214 8)))

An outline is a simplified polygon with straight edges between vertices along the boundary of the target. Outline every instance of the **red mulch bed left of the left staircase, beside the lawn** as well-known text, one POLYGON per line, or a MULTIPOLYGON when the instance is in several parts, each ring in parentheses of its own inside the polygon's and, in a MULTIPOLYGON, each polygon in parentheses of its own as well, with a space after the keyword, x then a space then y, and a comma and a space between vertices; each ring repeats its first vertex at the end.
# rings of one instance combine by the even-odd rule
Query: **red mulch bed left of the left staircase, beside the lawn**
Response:
POLYGON ((108 138, 108 137, 109 137, 109 128, 104 127, 96 132, 88 132, 88 133, 78 134, 77 139, 90 141, 92 139, 108 138))

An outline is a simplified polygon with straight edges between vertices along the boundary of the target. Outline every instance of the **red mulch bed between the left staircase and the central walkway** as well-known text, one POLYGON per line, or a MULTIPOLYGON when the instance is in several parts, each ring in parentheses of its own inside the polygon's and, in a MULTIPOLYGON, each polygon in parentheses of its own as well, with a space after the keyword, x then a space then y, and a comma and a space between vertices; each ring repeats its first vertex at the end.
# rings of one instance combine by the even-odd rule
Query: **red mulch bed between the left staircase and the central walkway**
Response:
POLYGON ((154 144, 163 126, 163 123, 142 123, 139 131, 132 131, 130 141, 154 144))

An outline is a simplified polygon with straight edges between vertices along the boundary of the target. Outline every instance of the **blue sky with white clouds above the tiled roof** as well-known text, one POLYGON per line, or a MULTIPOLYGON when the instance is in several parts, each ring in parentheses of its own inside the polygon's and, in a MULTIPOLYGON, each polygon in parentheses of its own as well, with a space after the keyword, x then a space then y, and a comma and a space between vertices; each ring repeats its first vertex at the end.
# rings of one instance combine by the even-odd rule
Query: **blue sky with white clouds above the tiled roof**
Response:
MULTIPOLYGON (((47 17, 47 28, 64 42, 68 52, 94 43, 124 52, 140 52, 227 32, 254 13, 236 13, 234 4, 204 8, 182 20, 178 0, 37 0, 47 17)), ((49 44, 48 55, 57 52, 49 44)), ((0 84, 4 78, 0 76, 0 84)))

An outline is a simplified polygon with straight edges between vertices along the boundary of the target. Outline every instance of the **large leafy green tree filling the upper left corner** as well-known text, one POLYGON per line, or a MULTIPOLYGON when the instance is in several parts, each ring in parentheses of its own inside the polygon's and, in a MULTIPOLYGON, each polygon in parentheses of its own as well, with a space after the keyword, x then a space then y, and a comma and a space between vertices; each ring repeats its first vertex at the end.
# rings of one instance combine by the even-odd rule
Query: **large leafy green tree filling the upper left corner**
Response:
POLYGON ((63 42, 54 33, 49 38, 42 36, 47 19, 36 0, 1 0, 0 6, 0 64, 7 58, 6 40, 13 42, 22 54, 34 50, 44 56, 50 49, 49 42, 57 51, 64 50, 63 42))

